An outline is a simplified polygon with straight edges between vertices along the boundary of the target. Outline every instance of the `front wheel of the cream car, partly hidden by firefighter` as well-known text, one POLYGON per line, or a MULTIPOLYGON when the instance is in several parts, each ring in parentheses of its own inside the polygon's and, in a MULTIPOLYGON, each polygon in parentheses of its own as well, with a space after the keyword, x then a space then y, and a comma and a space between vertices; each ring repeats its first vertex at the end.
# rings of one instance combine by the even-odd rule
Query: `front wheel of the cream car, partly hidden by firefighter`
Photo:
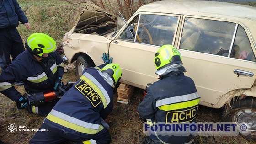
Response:
POLYGON ((78 56, 75 63, 77 79, 80 79, 81 75, 83 74, 82 72, 84 71, 85 68, 89 68, 92 66, 93 66, 93 63, 91 59, 89 59, 87 56, 84 56, 84 55, 78 56))

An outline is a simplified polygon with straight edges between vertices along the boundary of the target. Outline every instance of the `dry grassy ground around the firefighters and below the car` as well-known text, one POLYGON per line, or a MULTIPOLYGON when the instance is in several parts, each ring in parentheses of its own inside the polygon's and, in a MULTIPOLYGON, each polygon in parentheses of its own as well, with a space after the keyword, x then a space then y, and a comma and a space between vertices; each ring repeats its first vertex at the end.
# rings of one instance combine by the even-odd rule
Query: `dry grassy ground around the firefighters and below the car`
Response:
MULTIPOLYGON (((75 81, 75 69, 64 74, 64 82, 75 81)), ((17 87, 18 91, 24 92, 23 87, 17 87)), ((114 103, 111 114, 107 117, 110 125, 112 144, 141 144, 144 139, 142 132, 143 122, 139 119, 137 107, 142 101, 143 90, 135 89, 135 93, 129 105, 114 103)), ((116 100, 115 96, 115 100, 116 100)), ((9 123, 16 125, 27 125, 28 128, 39 128, 44 117, 28 114, 26 110, 17 110, 14 102, 0 95, 0 139, 8 144, 28 144, 34 132, 16 132, 9 134, 6 126, 9 123)), ((198 110, 199 122, 220 122, 221 109, 212 109, 200 106, 198 110)), ((252 140, 242 136, 197 136, 197 144, 255 144, 252 140)), ((70 144, 67 142, 67 144, 70 144)))

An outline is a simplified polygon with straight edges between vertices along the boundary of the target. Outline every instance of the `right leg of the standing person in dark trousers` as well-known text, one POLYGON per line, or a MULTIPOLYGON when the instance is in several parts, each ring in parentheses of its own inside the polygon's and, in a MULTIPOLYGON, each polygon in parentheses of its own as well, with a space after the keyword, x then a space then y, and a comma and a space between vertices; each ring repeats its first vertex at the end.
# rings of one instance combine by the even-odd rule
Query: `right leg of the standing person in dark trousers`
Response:
POLYGON ((11 57, 12 60, 15 59, 20 53, 24 51, 24 45, 21 39, 21 36, 16 28, 10 30, 11 33, 11 57))

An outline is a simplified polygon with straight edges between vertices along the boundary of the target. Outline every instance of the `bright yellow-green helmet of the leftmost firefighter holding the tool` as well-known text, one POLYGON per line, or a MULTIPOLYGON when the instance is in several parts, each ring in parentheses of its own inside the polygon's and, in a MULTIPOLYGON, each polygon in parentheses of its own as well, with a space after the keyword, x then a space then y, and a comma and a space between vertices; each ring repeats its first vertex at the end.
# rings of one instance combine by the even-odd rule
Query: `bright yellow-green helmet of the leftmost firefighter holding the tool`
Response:
POLYGON ((47 34, 33 33, 27 38, 25 47, 32 54, 42 57, 44 53, 51 53, 56 50, 56 42, 47 34))

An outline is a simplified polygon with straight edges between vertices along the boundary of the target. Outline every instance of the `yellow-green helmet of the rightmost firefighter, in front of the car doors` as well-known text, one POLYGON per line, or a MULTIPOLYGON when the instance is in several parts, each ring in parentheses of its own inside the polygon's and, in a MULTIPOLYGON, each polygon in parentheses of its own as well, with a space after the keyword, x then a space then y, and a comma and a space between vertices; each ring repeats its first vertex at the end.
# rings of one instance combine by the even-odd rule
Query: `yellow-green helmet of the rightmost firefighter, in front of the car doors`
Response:
POLYGON ((174 46, 165 44, 155 53, 155 69, 160 70, 171 64, 182 63, 181 53, 174 46))

